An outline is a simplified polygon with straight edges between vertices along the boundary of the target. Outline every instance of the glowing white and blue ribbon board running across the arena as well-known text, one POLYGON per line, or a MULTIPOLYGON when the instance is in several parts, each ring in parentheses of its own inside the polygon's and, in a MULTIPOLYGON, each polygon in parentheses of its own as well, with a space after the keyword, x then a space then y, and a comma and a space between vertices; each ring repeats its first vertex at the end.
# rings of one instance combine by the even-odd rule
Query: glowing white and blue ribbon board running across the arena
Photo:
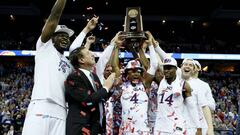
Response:
MULTIPOLYGON (((36 51, 33 50, 0 50, 0 56, 35 56, 36 51)), ((102 52, 93 52, 95 57, 100 57, 102 52)), ((69 55, 68 51, 64 52, 65 56, 69 55)), ((240 60, 240 54, 205 54, 205 53, 168 53, 175 59, 199 59, 199 60, 240 60)), ((149 58, 149 54, 146 53, 149 58)), ((130 52, 120 52, 119 58, 133 58, 130 52)))

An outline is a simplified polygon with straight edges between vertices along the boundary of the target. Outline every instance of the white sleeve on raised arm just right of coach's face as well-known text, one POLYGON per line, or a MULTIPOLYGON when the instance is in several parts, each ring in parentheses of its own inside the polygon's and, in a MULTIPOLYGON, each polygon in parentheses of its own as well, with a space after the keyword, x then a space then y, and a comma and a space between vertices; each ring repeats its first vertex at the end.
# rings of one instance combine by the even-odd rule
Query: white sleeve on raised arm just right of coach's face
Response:
POLYGON ((114 44, 110 44, 102 53, 102 55, 99 57, 97 63, 96 63, 96 74, 98 78, 100 79, 101 83, 103 84, 104 76, 103 72, 106 67, 107 62, 109 61, 112 51, 114 48, 114 44))

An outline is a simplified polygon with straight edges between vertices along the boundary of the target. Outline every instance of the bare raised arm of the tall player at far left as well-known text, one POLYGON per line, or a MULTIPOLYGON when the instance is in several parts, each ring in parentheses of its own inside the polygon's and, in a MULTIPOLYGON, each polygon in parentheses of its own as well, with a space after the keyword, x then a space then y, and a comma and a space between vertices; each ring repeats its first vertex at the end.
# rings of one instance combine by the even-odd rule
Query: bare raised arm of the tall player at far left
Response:
POLYGON ((55 2, 51 13, 42 29, 41 40, 43 43, 46 43, 55 32, 55 29, 64 10, 65 4, 66 0, 57 0, 55 2))

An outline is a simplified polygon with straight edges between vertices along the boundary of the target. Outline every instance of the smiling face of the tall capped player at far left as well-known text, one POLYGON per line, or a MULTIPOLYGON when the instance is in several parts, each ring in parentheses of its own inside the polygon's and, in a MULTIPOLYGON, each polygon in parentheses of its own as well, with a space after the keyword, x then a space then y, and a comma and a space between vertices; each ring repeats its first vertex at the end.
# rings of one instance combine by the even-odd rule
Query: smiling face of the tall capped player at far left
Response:
POLYGON ((70 46, 69 35, 65 32, 54 33, 53 43, 55 48, 59 52, 63 52, 64 50, 67 50, 70 46))

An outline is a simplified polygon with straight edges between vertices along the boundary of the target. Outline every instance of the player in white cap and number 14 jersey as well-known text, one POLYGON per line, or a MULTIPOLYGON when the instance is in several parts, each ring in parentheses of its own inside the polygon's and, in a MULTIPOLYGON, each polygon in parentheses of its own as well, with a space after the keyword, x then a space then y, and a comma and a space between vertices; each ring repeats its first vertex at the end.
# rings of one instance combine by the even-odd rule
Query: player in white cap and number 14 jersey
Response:
POLYGON ((177 61, 163 60, 164 78, 158 88, 158 105, 154 135, 185 135, 184 106, 194 108, 191 88, 176 75, 177 61))

